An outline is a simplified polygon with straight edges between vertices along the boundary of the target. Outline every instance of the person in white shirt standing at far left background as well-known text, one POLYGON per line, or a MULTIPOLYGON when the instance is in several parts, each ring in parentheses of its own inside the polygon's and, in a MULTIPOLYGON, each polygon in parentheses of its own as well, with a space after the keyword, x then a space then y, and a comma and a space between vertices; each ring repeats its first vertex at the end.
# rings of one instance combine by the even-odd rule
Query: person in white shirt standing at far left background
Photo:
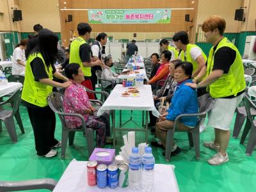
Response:
POLYGON ((28 43, 28 39, 20 41, 20 44, 16 46, 12 54, 12 75, 25 75, 26 67, 26 55, 25 49, 28 43))

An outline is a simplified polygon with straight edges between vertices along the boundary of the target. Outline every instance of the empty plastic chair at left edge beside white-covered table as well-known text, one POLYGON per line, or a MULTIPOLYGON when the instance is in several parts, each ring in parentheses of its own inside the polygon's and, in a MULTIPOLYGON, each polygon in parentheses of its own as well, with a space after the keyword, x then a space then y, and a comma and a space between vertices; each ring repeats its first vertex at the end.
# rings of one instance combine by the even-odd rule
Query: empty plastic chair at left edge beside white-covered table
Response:
MULTIPOLYGON (((4 122, 5 127, 10 135, 10 138, 12 139, 13 143, 17 143, 17 132, 15 129, 15 122, 13 119, 13 116, 15 116, 20 131, 24 134, 24 127, 20 118, 19 114, 19 103, 20 103, 20 95, 21 95, 22 88, 17 90, 15 93, 13 93, 7 100, 4 102, 0 102, 0 120, 4 122), (11 104, 12 110, 6 110, 1 108, 1 106, 4 106, 6 104, 11 104)), ((2 131, 2 124, 0 122, 0 132, 2 131)))

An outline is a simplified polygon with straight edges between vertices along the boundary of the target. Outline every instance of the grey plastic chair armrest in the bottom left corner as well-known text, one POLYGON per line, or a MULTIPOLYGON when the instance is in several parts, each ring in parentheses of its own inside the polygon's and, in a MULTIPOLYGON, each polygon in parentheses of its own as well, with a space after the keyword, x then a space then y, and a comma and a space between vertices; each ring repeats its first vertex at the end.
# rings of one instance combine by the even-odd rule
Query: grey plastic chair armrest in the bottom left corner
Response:
POLYGON ((26 191, 48 189, 53 191, 57 184, 54 179, 34 179, 22 181, 0 181, 0 191, 26 191))

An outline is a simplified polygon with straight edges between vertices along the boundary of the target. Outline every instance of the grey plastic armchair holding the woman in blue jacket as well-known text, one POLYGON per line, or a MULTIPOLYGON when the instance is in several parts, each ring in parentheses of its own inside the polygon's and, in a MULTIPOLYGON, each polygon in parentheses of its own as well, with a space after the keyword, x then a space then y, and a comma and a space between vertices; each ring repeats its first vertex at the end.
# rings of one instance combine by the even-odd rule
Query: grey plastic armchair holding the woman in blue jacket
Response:
POLYGON ((202 119, 205 115, 211 110, 213 105, 213 99, 209 94, 202 95, 198 97, 199 102, 199 113, 191 113, 191 114, 181 114, 175 118, 173 129, 167 131, 166 135, 166 149, 165 149, 165 159, 166 161, 170 161, 171 159, 171 152, 172 152, 172 143, 173 143, 173 136, 174 132, 187 132, 188 139, 189 139, 189 147, 194 147, 195 145, 195 153, 196 159, 200 159, 200 132, 199 127, 201 124, 202 119), (189 131, 180 131, 177 129, 177 125, 179 123, 180 118, 184 116, 197 116, 198 121, 196 123, 195 128, 190 129, 189 131))

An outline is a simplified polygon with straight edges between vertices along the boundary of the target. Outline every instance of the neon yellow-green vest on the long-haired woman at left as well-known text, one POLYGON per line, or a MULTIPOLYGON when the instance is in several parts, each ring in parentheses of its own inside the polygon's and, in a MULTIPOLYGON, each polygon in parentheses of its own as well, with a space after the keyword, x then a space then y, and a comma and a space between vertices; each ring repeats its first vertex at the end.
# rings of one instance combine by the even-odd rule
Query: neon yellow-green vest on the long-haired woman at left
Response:
POLYGON ((24 81, 21 99, 31 104, 34 104, 35 106, 44 108, 45 106, 48 106, 47 97, 49 93, 52 92, 52 86, 40 83, 39 81, 35 81, 35 77, 33 75, 31 65, 30 65, 31 61, 33 61, 35 58, 40 58, 43 61, 45 71, 49 79, 53 79, 52 67, 51 66, 47 67, 47 65, 45 65, 45 61, 42 54, 40 52, 30 54, 26 62, 25 81, 24 81))

